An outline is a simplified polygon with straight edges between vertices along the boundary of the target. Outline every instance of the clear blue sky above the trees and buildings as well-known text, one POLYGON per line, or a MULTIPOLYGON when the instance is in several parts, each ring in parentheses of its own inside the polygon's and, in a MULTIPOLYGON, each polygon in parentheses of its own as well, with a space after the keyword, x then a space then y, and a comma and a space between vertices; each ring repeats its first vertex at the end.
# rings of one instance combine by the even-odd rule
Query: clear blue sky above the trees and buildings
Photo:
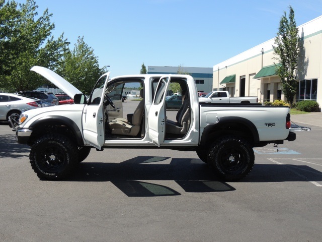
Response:
POLYGON ((73 48, 84 36, 112 77, 138 74, 143 62, 212 68, 274 38, 290 5, 297 25, 322 15, 322 0, 35 1, 39 15, 53 14, 55 38, 64 32, 73 48))

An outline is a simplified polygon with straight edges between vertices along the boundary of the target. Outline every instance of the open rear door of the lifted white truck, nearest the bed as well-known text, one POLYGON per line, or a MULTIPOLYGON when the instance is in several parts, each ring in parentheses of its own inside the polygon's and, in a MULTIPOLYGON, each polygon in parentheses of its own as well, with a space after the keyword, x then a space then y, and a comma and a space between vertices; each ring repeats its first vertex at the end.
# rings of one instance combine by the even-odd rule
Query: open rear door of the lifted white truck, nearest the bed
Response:
POLYGON ((166 135, 166 91, 171 76, 163 76, 157 84, 153 104, 148 114, 148 135, 158 147, 165 141, 166 135))

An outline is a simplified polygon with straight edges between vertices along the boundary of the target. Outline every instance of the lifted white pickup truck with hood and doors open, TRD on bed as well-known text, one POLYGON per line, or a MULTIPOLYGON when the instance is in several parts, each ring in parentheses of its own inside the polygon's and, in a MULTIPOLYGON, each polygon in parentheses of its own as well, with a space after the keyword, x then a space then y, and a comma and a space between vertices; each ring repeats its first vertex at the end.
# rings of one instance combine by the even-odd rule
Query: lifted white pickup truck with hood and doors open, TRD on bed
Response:
POLYGON ((258 104, 199 104, 195 81, 188 75, 129 75, 98 80, 87 98, 56 73, 33 67, 74 104, 28 110, 16 129, 20 144, 31 146, 31 167, 42 179, 66 177, 97 150, 164 148, 196 151, 219 177, 238 180, 253 168, 253 147, 295 140, 288 107, 258 104), (183 103, 176 120, 167 118, 169 84, 181 86, 183 103), (142 101, 123 117, 125 87, 143 86, 142 101), (144 90, 144 91, 143 91, 144 90))

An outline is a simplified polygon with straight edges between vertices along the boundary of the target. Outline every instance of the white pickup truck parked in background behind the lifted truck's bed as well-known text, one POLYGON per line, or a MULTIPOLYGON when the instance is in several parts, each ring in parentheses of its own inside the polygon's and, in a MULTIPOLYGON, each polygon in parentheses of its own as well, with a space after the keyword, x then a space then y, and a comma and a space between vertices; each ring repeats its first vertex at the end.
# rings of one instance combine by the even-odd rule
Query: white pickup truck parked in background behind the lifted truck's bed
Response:
POLYGON ((209 92, 204 97, 199 97, 199 102, 205 103, 257 103, 258 97, 229 97, 227 91, 209 92))

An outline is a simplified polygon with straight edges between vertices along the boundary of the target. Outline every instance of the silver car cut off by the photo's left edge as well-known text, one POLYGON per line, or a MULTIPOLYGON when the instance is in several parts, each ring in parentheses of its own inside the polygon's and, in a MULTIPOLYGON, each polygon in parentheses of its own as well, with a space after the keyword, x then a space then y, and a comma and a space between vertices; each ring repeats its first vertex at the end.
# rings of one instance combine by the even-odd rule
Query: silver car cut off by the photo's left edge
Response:
POLYGON ((42 100, 12 93, 0 93, 0 121, 9 121, 13 117, 16 122, 23 111, 42 107, 42 100))

